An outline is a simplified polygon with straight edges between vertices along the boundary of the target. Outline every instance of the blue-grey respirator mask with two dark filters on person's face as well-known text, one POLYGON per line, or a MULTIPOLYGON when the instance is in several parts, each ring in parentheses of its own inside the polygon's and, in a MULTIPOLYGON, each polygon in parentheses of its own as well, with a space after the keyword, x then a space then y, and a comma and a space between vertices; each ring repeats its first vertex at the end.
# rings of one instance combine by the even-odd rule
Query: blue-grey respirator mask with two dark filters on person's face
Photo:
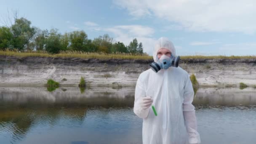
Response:
POLYGON ((168 69, 169 67, 178 67, 179 66, 179 56, 175 57, 171 54, 171 57, 163 55, 157 61, 152 62, 150 65, 151 69, 154 72, 160 71, 160 69, 168 69))

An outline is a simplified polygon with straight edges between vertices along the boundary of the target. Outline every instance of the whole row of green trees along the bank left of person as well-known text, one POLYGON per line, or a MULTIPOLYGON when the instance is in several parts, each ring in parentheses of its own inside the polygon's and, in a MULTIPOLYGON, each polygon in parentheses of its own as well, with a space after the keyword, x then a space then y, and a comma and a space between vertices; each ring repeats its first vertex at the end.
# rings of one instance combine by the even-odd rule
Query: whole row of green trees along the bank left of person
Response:
POLYGON ((108 34, 88 39, 83 31, 73 31, 61 34, 58 29, 41 30, 32 27, 25 18, 15 18, 10 26, 0 27, 0 50, 17 49, 19 51, 84 51, 104 53, 132 53, 147 55, 143 52, 142 43, 135 38, 129 45, 114 42, 108 34))

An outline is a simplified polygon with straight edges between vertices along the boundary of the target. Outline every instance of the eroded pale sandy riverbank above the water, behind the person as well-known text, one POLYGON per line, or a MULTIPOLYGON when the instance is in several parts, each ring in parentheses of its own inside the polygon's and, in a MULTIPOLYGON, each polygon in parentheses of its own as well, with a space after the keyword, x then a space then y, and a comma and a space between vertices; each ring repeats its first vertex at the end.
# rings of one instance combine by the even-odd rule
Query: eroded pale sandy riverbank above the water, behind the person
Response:
MULTIPOLYGON (((239 87, 239 83, 255 87, 256 58, 210 58, 181 57, 179 67, 194 74, 200 87, 239 87)), ((78 86, 84 77, 91 87, 135 87, 152 61, 0 55, 0 85, 43 86, 53 79, 62 86, 78 86)))

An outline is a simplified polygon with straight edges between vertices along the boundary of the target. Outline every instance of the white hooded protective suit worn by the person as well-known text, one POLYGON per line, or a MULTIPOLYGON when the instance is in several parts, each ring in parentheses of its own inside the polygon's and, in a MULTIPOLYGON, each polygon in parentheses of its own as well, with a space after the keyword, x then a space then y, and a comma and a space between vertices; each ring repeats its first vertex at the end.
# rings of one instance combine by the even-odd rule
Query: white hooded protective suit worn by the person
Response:
MULTIPOLYGON (((161 37, 153 51, 155 61, 160 48, 176 54, 171 41, 161 37)), ((142 72, 136 83, 133 111, 143 118, 143 144, 200 144, 193 98, 192 83, 184 69, 169 67, 157 73, 152 69, 142 72), (146 96, 152 97, 157 116, 151 107, 141 106, 146 96)))

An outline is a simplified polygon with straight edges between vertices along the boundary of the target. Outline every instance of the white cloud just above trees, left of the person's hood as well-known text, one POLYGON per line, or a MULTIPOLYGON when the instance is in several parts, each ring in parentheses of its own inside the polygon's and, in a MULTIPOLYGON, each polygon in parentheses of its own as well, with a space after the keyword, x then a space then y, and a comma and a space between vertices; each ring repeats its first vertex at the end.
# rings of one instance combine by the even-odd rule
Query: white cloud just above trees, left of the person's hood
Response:
POLYGON ((120 25, 104 29, 115 35, 115 40, 123 42, 125 45, 136 38, 138 42, 143 44, 144 52, 152 55, 156 39, 152 37, 155 30, 151 27, 144 27, 141 25, 120 25))

